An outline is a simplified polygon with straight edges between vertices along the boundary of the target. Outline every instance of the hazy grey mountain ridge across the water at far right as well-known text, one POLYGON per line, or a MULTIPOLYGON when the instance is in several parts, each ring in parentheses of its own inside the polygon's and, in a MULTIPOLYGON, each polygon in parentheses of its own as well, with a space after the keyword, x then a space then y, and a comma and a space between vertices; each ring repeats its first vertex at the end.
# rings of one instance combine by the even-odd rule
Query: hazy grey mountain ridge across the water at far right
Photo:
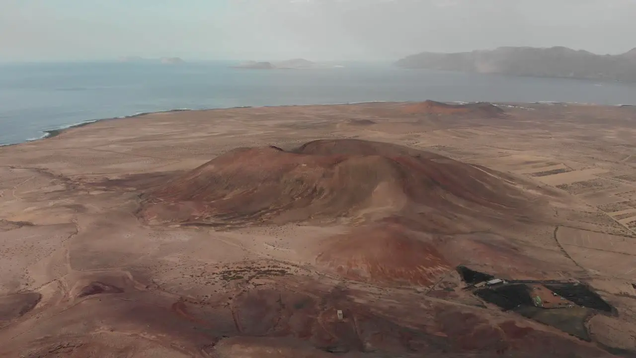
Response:
POLYGON ((636 82, 636 48, 620 55, 597 55, 567 47, 499 47, 440 54, 422 52, 396 62, 401 68, 437 69, 514 76, 636 82))

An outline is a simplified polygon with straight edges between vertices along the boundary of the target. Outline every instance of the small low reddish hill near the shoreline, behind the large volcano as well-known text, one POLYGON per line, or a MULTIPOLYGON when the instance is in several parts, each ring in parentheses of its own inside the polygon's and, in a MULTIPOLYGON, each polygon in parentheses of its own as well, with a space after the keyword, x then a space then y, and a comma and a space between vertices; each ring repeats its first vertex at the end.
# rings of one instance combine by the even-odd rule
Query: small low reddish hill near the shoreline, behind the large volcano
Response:
POLYGON ((474 115, 476 117, 499 117, 505 112, 494 104, 487 102, 448 104, 436 101, 406 104, 404 112, 424 115, 474 115))

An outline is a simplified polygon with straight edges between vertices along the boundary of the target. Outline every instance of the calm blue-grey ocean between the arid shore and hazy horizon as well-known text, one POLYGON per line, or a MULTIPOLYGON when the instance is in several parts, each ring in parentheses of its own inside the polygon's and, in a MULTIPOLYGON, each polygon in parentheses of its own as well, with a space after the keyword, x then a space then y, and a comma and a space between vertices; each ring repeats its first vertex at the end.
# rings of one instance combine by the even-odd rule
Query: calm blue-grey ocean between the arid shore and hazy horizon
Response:
POLYGON ((0 64, 0 145, 102 118, 180 109, 371 101, 635 104, 636 85, 347 63, 233 69, 232 62, 0 64))

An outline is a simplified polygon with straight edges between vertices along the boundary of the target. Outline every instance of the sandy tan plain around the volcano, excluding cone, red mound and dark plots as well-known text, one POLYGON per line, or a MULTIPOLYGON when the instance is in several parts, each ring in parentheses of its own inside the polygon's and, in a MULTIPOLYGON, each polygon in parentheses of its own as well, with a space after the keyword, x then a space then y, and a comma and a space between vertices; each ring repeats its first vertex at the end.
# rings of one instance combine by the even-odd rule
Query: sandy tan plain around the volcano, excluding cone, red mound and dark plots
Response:
POLYGON ((636 354, 636 109, 500 108, 492 117, 401 103, 154 113, 1 147, 0 356, 636 354), (351 223, 228 230, 137 215, 144 190, 228 150, 345 138, 501 171, 543 213, 420 238, 444 259, 431 282, 410 285, 323 262, 324 245, 351 223), (592 341, 581 341, 462 292, 457 264, 597 283, 618 313, 588 320, 592 341))

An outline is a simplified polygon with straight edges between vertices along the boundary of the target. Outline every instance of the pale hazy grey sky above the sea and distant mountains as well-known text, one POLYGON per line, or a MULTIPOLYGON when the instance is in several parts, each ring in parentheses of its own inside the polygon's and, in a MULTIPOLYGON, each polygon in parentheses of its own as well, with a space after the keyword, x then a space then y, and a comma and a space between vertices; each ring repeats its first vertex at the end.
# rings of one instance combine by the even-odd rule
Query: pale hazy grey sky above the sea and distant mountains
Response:
POLYGON ((636 47, 636 0, 0 0, 0 61, 636 47))

